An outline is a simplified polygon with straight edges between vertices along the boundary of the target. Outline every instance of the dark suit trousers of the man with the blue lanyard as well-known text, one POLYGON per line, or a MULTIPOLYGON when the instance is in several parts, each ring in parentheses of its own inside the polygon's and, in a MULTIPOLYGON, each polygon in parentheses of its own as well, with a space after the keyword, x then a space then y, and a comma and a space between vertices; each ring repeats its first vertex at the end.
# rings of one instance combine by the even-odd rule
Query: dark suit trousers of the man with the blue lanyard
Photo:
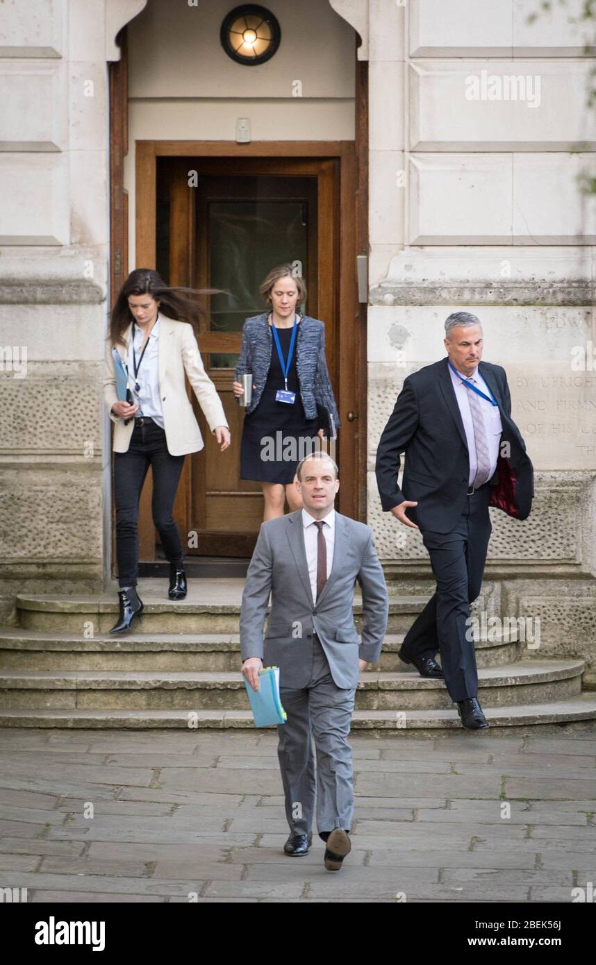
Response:
POLYGON ((491 537, 490 486, 468 496, 451 533, 422 530, 437 590, 406 634, 407 656, 433 657, 440 664, 451 700, 478 696, 478 674, 473 640, 467 640, 469 604, 480 593, 491 537))

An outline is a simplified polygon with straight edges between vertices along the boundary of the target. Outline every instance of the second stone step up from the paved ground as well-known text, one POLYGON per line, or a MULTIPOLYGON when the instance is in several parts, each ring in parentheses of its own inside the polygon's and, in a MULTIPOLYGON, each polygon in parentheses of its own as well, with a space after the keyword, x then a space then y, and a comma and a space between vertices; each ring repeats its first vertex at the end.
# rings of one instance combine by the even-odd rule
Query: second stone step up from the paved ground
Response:
MULTIPOLYGON (((569 701, 582 691, 582 660, 520 660, 478 673, 483 707, 569 701)), ((5 671, 0 675, 0 708, 53 710, 243 710, 240 673, 97 671, 5 671)), ((452 707, 444 682, 417 673, 369 671, 362 675, 357 710, 412 710, 452 707)))

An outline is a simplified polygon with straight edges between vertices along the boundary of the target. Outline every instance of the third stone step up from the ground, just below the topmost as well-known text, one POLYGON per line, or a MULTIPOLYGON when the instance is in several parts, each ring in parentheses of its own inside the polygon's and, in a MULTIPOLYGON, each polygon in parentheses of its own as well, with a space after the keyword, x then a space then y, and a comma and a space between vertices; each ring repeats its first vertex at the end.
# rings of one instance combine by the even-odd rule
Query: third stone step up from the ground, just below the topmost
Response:
MULTIPOLYGON (((404 635, 387 634, 376 668, 405 671, 397 651, 404 635)), ((515 641, 479 641, 478 667, 510 664, 522 655, 515 641)), ((123 637, 0 627, 0 667, 22 671, 236 671, 240 667, 238 634, 147 634, 123 637)), ((412 667, 410 668, 412 669, 412 667)))

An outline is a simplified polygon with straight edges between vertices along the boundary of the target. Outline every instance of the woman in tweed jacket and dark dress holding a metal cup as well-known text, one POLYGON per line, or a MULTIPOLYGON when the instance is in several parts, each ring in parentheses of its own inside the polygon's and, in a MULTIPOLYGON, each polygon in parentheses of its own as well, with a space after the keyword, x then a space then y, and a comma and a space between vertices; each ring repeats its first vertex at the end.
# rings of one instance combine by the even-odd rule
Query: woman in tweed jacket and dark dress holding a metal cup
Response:
POLYGON ((241 357, 236 368, 234 395, 240 400, 243 374, 253 377, 252 399, 246 406, 241 439, 241 479, 258 481, 265 499, 265 519, 281 516, 285 500, 290 510, 302 502, 296 487, 299 459, 321 448, 317 405, 326 408, 339 426, 337 406, 325 356, 325 325, 318 318, 301 316, 298 305, 306 298, 302 278, 291 264, 271 269, 260 286, 270 311, 246 318, 242 328, 241 357), (296 318, 296 343, 288 371, 288 390, 296 394, 293 404, 278 401, 284 376, 273 339, 275 325, 284 363, 288 360, 296 318))

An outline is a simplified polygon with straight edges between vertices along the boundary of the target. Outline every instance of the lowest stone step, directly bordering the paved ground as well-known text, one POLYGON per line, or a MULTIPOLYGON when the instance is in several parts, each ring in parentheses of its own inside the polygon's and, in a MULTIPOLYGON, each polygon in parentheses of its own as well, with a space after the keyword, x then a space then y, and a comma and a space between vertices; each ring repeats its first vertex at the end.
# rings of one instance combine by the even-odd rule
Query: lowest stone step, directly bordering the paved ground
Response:
MULTIPOLYGON (((582 694, 569 701, 517 704, 487 707, 485 716, 489 731, 516 734, 536 732, 573 732, 578 721, 594 722, 596 732, 596 694, 582 694)), ((90 730, 148 730, 152 728, 184 728, 196 730, 254 731, 252 714, 248 710, 198 710, 190 719, 185 710, 0 710, 0 728, 70 728, 90 730)), ((268 728, 266 730, 272 730, 268 728)), ((412 710, 396 720, 391 710, 355 710, 353 731, 371 734, 395 734, 405 739, 440 736, 462 726, 457 710, 412 710)), ((467 731, 468 735, 472 731, 467 731)))

